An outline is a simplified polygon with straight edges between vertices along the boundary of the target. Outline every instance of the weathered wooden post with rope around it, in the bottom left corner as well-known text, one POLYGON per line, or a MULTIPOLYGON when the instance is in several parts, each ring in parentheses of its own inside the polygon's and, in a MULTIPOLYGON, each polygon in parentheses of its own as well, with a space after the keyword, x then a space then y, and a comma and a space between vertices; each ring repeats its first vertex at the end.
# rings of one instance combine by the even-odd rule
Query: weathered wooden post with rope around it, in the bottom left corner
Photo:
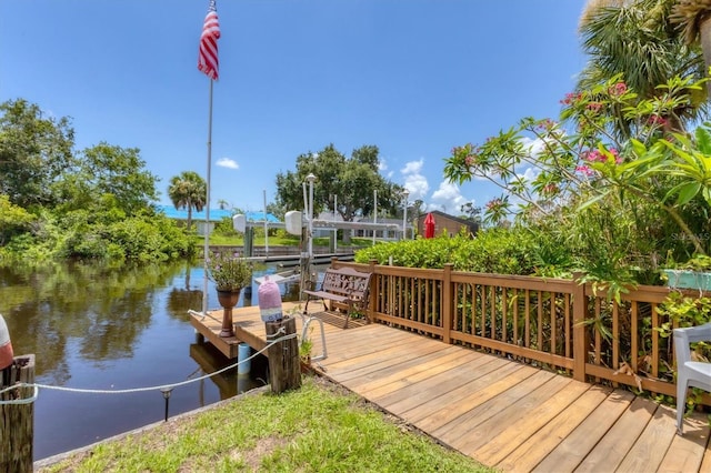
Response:
MULTIPOLYGON (((34 383, 34 355, 16 356, 10 366, 0 371, 0 390, 16 383, 34 383)), ((0 401, 30 399, 33 388, 18 388, 0 394, 0 401)), ((34 440, 34 403, 0 404, 0 471, 32 472, 34 440)))

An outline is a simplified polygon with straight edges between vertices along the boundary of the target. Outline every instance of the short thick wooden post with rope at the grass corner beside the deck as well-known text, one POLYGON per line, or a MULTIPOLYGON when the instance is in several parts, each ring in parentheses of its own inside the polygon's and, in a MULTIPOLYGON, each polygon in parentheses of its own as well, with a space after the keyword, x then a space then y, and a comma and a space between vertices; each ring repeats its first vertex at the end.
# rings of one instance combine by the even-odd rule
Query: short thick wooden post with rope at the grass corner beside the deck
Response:
MULTIPOLYGON (((266 322, 267 343, 282 336, 297 333, 297 320, 292 316, 279 322, 266 322), (280 329, 283 328, 283 332, 280 329)), ((269 382, 271 391, 279 394, 301 386, 301 365, 299 363, 299 341, 297 338, 274 343, 267 350, 269 358, 269 382)))

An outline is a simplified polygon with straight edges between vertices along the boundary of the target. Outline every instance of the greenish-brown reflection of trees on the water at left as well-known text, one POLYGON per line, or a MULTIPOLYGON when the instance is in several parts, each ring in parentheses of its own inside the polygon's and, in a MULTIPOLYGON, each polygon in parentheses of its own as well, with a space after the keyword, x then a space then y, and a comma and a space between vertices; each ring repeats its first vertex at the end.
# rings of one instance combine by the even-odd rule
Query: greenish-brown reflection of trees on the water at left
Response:
POLYGON ((63 360, 72 343, 88 360, 132 353, 138 335, 150 323, 156 289, 164 288, 178 271, 176 264, 4 269, 0 270, 0 312, 16 354, 34 353, 37 374, 61 383, 68 378, 63 360), (1 298, 6 292, 16 294, 11 305, 1 298))

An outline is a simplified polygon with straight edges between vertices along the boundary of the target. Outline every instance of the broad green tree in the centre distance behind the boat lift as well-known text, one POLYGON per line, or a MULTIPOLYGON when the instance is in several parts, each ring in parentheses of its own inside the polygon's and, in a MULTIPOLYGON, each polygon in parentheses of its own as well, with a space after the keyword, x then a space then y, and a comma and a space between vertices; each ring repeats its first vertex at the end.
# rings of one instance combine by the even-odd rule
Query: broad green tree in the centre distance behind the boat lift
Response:
POLYGON ((401 202, 402 188, 387 181, 378 165, 379 150, 374 145, 356 149, 350 158, 333 144, 318 153, 301 154, 297 158, 296 171, 277 174, 277 203, 284 209, 303 209, 302 184, 307 182, 307 175, 313 173, 317 179, 313 185, 316 214, 332 209, 337 201, 337 211, 343 221, 368 215, 374 210, 375 191, 378 209, 394 213, 401 202))

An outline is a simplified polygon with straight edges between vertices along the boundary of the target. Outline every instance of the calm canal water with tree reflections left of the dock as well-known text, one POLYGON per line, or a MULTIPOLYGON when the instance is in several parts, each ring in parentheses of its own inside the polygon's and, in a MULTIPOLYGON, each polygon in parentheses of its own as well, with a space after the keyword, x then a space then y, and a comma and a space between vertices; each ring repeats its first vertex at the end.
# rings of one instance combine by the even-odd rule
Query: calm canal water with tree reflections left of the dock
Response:
MULTIPOLYGON (((272 273, 258 268, 254 275, 272 273)), ((202 308, 203 271, 187 263, 109 270, 87 264, 51 270, 0 269, 0 313, 16 356, 36 355, 36 382, 124 390, 173 384, 231 364, 210 344, 197 344, 188 310, 202 308)), ((257 286, 251 300, 257 305, 257 286)), ((282 299, 298 300, 298 284, 282 299)), ((219 308, 210 283, 208 306, 219 308)), ((237 369, 176 388, 169 415, 266 384, 264 361, 252 376, 237 369)), ((34 404, 34 460, 62 453, 164 419, 160 391, 87 394, 40 390, 34 404)))

